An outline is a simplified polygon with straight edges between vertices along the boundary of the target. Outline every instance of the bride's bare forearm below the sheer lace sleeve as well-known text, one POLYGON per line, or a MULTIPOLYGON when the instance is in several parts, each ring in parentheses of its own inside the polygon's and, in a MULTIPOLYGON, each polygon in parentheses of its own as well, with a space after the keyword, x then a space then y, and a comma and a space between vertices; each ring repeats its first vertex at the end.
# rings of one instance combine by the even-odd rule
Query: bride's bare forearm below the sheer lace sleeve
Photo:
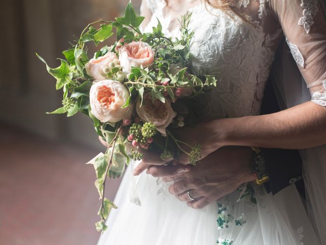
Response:
POLYGON ((311 148, 326 144, 326 107, 307 102, 268 115, 215 120, 205 127, 213 132, 216 149, 223 145, 311 148))

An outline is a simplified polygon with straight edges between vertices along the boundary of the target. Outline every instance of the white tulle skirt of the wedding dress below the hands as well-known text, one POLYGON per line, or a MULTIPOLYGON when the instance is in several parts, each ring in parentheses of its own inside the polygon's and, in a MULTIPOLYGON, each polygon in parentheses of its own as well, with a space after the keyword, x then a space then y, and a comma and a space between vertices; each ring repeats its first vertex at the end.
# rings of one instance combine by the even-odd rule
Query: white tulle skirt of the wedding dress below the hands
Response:
MULTIPOLYGON (((135 164, 135 163, 133 163, 135 164)), ((295 186, 276 195, 241 186, 203 209, 168 192, 168 184, 129 166, 98 245, 315 245, 320 244, 295 186)))

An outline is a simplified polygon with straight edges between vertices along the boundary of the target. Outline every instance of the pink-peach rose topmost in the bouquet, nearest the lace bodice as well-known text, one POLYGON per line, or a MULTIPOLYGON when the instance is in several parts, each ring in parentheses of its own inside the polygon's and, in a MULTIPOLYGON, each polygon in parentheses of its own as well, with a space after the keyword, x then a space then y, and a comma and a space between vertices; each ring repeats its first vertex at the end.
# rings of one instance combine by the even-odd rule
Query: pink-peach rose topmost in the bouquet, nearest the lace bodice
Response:
POLYGON ((119 61, 122 71, 129 73, 131 67, 149 67, 154 62, 154 52, 146 42, 126 43, 119 48, 119 61))

